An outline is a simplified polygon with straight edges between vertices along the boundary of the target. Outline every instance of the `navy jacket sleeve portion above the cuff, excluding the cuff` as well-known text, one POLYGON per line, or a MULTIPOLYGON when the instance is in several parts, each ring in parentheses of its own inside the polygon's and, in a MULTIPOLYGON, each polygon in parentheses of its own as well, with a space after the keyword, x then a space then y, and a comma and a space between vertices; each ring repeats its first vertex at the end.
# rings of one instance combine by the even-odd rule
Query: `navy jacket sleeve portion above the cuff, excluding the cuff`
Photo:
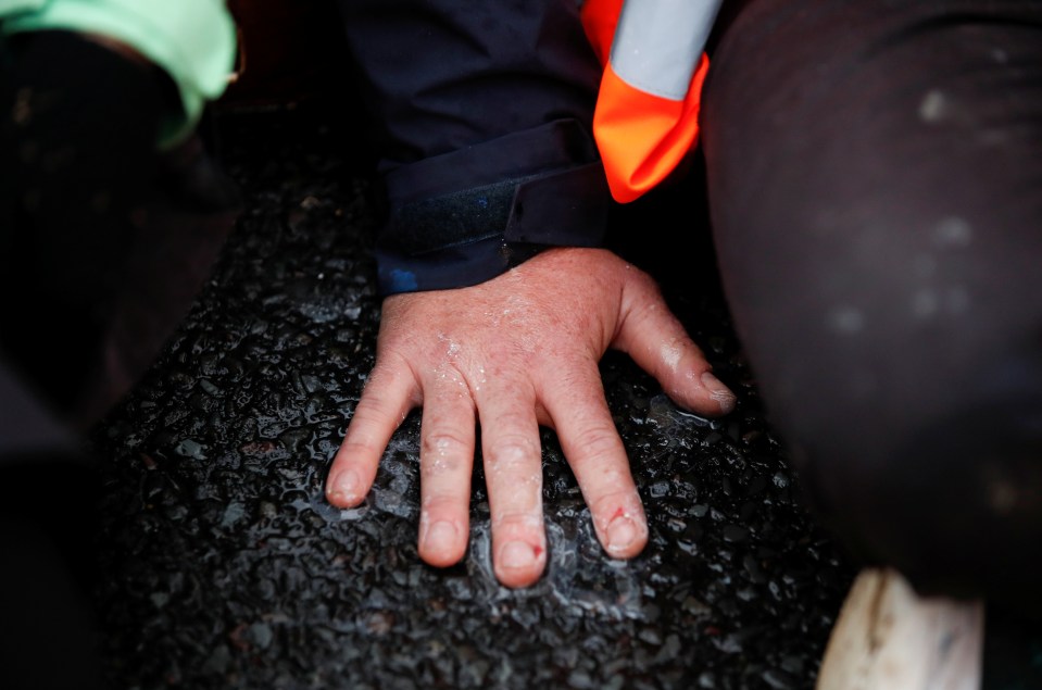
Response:
MULTIPOLYGON (((592 121, 601 70, 575 2, 339 3, 381 170, 555 120, 592 121)), ((473 183, 493 181, 497 164, 516 163, 489 161, 473 183)))

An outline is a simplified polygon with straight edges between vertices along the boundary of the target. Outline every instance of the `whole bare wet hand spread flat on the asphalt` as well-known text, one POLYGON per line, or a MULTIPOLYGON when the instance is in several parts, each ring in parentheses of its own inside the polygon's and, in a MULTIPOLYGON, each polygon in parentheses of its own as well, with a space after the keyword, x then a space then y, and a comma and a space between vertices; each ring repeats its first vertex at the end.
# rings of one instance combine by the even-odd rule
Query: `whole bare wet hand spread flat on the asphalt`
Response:
POLYGON ((542 425, 557 432, 601 544, 613 557, 637 555, 648 523, 598 368, 608 348, 688 410, 735 406, 652 278, 606 250, 551 249, 477 286, 387 298, 376 365, 329 469, 329 502, 364 499, 394 430, 423 406, 419 555, 459 562, 480 421, 493 570, 526 587, 547 564, 542 425))

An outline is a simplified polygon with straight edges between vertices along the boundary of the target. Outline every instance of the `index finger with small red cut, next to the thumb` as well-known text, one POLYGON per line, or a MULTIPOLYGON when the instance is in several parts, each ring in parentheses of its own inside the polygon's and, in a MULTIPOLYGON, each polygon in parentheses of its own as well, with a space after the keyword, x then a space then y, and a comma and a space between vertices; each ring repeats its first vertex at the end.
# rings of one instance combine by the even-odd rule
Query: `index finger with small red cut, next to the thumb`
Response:
POLYGON ((613 557, 629 559, 648 543, 648 519, 633 484, 623 440, 604 399, 597 367, 577 365, 545 389, 545 405, 582 497, 593 528, 613 557))

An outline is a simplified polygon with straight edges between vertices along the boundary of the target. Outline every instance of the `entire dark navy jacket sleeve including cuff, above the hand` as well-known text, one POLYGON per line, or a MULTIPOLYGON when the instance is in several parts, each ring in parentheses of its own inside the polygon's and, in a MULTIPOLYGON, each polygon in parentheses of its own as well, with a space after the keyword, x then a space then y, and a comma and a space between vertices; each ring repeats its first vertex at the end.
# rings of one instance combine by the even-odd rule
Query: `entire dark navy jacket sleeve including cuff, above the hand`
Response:
POLYGON ((603 241, 601 68, 576 0, 341 0, 378 127, 385 294, 488 280, 603 241))

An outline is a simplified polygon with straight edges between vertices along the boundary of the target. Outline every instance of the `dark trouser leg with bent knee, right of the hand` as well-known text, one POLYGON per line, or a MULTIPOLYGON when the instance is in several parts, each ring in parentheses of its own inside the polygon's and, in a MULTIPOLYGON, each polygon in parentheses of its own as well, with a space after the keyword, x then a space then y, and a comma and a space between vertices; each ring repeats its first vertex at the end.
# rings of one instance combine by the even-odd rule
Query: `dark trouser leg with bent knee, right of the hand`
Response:
POLYGON ((922 591, 1042 611, 1042 5, 750 2, 703 127, 812 503, 922 591))

